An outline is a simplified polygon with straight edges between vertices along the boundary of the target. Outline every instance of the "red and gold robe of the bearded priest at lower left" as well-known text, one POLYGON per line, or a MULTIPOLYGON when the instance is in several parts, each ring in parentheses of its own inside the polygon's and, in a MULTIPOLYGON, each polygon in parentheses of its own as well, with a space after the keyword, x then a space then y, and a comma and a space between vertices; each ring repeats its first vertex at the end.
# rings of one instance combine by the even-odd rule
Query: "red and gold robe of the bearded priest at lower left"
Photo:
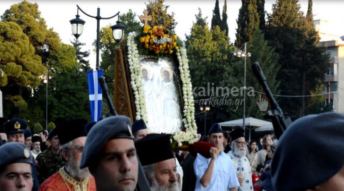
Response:
POLYGON ((93 176, 77 181, 61 167, 41 184, 38 191, 96 191, 96 187, 93 176))

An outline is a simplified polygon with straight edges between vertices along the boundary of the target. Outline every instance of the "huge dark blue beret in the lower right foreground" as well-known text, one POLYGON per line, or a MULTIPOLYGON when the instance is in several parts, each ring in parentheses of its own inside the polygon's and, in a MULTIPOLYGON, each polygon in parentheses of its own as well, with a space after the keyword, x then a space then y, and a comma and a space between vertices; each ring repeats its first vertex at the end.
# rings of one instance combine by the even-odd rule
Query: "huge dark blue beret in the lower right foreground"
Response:
POLYGON ((328 112, 295 120, 278 141, 272 183, 278 191, 312 189, 344 166, 344 116, 328 112))

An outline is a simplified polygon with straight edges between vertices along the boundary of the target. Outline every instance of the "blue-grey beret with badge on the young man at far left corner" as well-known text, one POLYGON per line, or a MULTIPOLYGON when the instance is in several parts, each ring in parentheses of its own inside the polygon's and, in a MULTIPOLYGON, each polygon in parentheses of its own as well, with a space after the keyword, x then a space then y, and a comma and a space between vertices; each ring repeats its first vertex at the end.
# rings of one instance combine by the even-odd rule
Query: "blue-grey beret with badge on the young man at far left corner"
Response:
POLYGON ((32 165, 32 155, 23 143, 11 142, 0 146, 0 169, 13 163, 28 163, 32 165))

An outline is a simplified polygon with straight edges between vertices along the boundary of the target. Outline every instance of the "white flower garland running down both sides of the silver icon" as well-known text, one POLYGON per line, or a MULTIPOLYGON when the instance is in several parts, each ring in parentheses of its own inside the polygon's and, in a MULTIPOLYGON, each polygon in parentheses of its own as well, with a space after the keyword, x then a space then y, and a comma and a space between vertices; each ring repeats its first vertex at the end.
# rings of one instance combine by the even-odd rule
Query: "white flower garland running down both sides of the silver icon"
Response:
MULTIPOLYGON (((135 95, 136 106, 136 119, 143 119, 147 123, 144 92, 141 84, 141 73, 139 63, 139 51, 137 44, 135 43, 136 32, 130 32, 128 34, 128 62, 131 73, 131 86, 135 95)), ((177 50, 177 58, 179 61, 180 78, 183 84, 183 123, 186 128, 186 132, 177 131, 173 133, 173 139, 178 143, 178 146, 182 146, 183 142, 190 144, 198 141, 197 125, 195 120, 195 107, 194 96, 192 95, 192 84, 189 72, 188 58, 186 55, 186 49, 179 47, 177 50)))

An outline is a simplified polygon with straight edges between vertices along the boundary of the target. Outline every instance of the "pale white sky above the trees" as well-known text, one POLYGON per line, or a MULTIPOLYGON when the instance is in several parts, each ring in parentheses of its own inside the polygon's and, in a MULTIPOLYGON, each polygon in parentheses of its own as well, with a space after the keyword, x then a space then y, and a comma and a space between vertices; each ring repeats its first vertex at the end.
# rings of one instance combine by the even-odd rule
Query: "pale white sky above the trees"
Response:
MULTIPOLYGON (((48 28, 53 28, 56 31, 62 42, 71 44, 70 41, 74 39, 71 32, 69 21, 75 18, 77 13, 77 4, 87 14, 96 16, 97 8, 100 8, 101 17, 111 17, 118 11, 126 13, 132 9, 138 16, 143 15, 145 3, 148 0, 28 0, 29 2, 37 2, 41 17, 43 17, 48 25, 48 28)), ((19 3, 21 0, 1 0, 0 14, 10 8, 12 4, 19 3)), ((265 11, 271 13, 271 7, 275 0, 265 0, 265 11)), ((301 11, 307 13, 308 0, 299 0, 301 11)), ((179 38, 185 40, 185 34, 190 34, 190 29, 193 22, 196 21, 195 15, 198 14, 198 8, 201 8, 202 16, 207 17, 207 22, 210 26, 212 11, 215 6, 215 0, 165 0, 165 5, 170 5, 169 13, 175 13, 174 19, 178 23, 175 31, 179 38)), ((222 15, 222 8, 224 0, 219 0, 220 13, 222 15)), ((238 18, 239 9, 241 7, 241 0, 227 0, 227 15, 229 25, 229 38, 233 43, 236 33, 236 19, 238 18)), ((96 39, 97 22, 95 19, 87 17, 79 12, 80 18, 86 21, 84 32, 79 37, 80 42, 85 43, 83 50, 91 50, 88 57, 90 65, 95 68, 96 53, 93 51, 92 43, 96 39)), ((344 0, 313 0, 313 15, 314 19, 321 19, 328 21, 328 28, 331 34, 338 36, 344 35, 344 0)), ((113 25, 117 21, 117 17, 110 20, 100 20, 100 27, 113 25)), ((248 50, 249 51, 249 50, 248 50)))

